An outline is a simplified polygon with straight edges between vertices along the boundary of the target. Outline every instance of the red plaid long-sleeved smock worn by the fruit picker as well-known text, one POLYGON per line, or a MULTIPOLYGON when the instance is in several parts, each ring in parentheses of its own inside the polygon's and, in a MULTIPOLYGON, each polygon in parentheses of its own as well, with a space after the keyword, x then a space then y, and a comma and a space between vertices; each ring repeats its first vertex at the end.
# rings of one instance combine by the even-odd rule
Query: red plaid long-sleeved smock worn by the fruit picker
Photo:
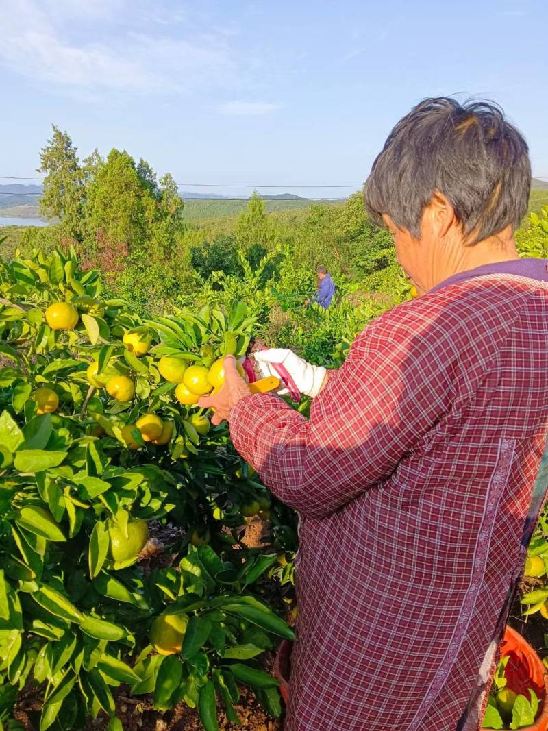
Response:
POLYGON ((310 419, 267 394, 232 410, 237 450, 301 518, 287 730, 479 727, 547 436, 547 336, 548 284, 476 277, 371 323, 310 419))

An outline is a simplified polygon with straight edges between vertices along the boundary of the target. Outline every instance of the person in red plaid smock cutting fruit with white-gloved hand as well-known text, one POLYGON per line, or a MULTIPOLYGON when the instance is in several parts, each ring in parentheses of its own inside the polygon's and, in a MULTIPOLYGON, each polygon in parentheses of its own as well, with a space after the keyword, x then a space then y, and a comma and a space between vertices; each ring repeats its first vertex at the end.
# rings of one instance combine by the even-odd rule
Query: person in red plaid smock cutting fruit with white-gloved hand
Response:
POLYGON ((425 100, 365 184, 424 296, 366 327, 338 371, 257 356, 315 397, 309 419, 250 395, 232 359, 202 399, 300 514, 288 730, 481 725, 547 488, 548 265, 513 236, 529 187, 501 110, 425 100))

